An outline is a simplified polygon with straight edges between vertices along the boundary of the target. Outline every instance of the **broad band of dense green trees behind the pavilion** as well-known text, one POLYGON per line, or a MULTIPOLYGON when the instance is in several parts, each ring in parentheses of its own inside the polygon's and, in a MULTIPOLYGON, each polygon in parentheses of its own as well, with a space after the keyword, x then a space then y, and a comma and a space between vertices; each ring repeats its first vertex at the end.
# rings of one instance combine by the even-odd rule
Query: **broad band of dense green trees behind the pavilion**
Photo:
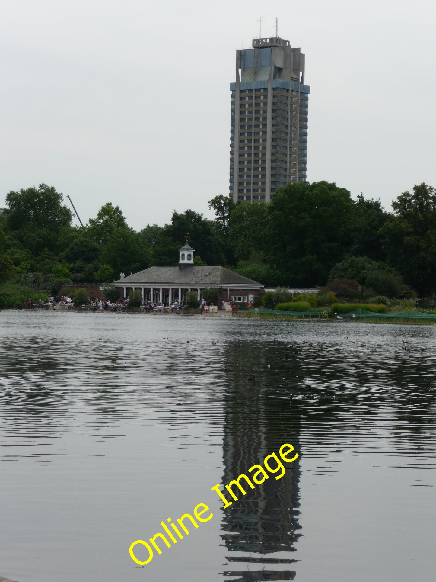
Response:
MULTIPOLYGON (((398 196, 392 214, 380 200, 360 194, 355 201, 328 182, 289 184, 270 204, 215 196, 209 208, 212 220, 174 211, 169 224, 135 232, 107 203, 76 228, 54 187, 10 191, 0 215, 0 284, 24 277, 47 289, 70 281, 110 285, 120 272, 177 265, 188 232, 196 265, 223 265, 274 288, 321 286, 324 306, 332 294, 367 300, 436 290, 436 194, 426 184, 398 196)), ((289 301, 266 296, 264 304, 289 301)))

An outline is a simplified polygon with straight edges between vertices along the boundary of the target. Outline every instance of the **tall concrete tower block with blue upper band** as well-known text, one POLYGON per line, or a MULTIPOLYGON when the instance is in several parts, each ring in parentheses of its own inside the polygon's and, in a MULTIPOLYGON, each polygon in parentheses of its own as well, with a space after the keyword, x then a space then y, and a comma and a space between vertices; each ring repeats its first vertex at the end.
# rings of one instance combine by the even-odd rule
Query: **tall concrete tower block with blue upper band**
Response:
POLYGON ((269 202, 278 188, 306 181, 308 107, 305 55, 280 37, 236 51, 230 83, 230 187, 236 202, 269 202))

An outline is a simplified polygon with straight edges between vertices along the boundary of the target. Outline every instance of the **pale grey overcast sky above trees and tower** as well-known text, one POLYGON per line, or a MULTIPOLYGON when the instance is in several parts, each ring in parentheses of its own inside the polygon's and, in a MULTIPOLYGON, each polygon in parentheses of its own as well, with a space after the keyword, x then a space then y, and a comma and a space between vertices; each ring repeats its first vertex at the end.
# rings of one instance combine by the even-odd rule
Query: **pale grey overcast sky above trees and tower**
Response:
MULTIPOLYGON (((136 230, 228 194, 235 51, 306 55, 308 180, 392 198, 436 186, 434 0, 0 0, 0 207, 40 182, 136 230)), ((77 222, 77 221, 76 221, 77 222)))

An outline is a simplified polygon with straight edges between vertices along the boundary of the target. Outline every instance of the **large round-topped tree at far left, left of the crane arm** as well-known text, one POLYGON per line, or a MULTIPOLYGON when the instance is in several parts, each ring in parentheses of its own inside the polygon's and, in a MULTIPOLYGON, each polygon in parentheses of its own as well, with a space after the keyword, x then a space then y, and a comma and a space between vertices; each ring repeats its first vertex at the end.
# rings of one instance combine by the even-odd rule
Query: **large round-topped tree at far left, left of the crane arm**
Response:
POLYGON ((55 249, 59 231, 69 226, 72 213, 62 204, 62 194, 52 186, 10 191, 6 195, 6 225, 9 232, 34 255, 55 249))

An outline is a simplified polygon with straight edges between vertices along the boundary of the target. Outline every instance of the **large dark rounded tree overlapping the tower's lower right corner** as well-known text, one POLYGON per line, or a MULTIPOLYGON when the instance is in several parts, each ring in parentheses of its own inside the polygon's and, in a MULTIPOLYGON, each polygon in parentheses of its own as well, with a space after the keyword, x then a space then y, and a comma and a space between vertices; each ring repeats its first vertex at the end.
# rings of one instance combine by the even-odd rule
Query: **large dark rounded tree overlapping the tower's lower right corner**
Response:
POLYGON ((268 214, 270 264, 294 285, 326 282, 351 244, 355 202, 349 191, 328 182, 289 184, 277 191, 268 214))

